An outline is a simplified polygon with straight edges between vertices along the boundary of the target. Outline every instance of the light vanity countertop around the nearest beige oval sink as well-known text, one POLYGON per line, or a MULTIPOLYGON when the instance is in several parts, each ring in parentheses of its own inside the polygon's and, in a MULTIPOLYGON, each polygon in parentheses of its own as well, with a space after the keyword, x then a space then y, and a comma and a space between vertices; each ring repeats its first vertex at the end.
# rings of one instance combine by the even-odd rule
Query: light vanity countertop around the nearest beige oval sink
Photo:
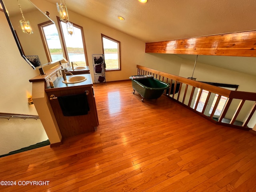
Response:
POLYGON ((90 74, 70 75, 70 76, 67 76, 67 79, 72 76, 84 76, 87 78, 87 80, 80 82, 80 83, 65 84, 62 82, 62 80, 63 80, 62 76, 60 76, 60 77, 57 77, 56 80, 54 80, 54 82, 53 82, 54 88, 50 88, 50 86, 48 86, 45 89, 45 91, 51 92, 51 91, 57 91, 57 90, 66 90, 66 89, 70 89, 70 88, 78 88, 78 86, 93 86, 92 77, 90 74))

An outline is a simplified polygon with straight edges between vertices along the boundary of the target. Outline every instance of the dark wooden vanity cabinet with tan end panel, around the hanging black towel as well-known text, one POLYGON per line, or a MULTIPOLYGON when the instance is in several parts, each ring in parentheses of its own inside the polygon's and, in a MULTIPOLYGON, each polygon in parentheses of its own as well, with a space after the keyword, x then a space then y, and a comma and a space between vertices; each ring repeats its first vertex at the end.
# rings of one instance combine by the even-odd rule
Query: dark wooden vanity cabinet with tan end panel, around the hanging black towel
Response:
POLYGON ((89 68, 78 72, 80 76, 86 77, 86 80, 76 84, 62 82, 61 68, 66 68, 66 64, 57 65, 47 70, 44 75, 38 75, 29 80, 32 82, 32 99, 51 146, 61 144, 62 139, 93 132, 99 125, 92 78, 90 73, 87 73, 89 68), (54 82, 54 88, 50 88, 50 77, 54 82), (88 91, 86 98, 90 108, 88 114, 64 116, 58 96, 82 94, 86 91, 88 91), (54 99, 50 100, 51 95, 54 95, 54 99))

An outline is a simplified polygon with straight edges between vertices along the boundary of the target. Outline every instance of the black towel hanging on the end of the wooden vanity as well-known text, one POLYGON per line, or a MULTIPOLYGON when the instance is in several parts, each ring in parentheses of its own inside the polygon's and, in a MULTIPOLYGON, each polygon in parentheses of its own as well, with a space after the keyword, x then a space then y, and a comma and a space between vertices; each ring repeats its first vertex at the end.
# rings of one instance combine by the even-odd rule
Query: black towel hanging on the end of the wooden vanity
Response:
POLYGON ((64 116, 87 115, 90 111, 86 94, 58 96, 64 116))

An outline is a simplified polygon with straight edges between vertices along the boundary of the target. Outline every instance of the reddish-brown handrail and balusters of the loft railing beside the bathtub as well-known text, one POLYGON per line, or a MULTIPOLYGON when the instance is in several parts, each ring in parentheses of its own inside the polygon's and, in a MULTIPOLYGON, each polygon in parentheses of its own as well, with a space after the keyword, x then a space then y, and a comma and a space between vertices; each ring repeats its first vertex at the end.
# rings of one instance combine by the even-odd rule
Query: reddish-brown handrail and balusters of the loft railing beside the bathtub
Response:
MULTIPOLYGON (((184 105, 185 107, 189 108, 190 110, 193 110, 197 114, 200 114, 201 116, 204 116, 205 118, 208 118, 212 122, 215 122, 215 123, 218 123, 218 124, 227 125, 226 123, 222 123, 222 119, 225 117, 226 113, 228 112, 232 100, 233 99, 240 100, 240 104, 238 105, 236 111, 234 111, 234 115, 233 115, 232 119, 230 120, 230 124, 228 124, 228 125, 232 126, 232 127, 235 127, 235 128, 241 128, 242 127, 242 129, 244 129, 244 130, 250 130, 250 128, 246 128, 246 126, 247 126, 248 122, 250 121, 250 118, 252 118, 252 115, 256 111, 256 93, 242 92, 242 91, 232 91, 232 90, 220 88, 218 86, 213 86, 213 85, 206 84, 206 83, 203 83, 203 82, 198 82, 198 81, 190 80, 190 79, 187 79, 187 78, 184 78, 184 77, 180 77, 180 76, 176 76, 176 75, 173 75, 173 74, 169 74, 169 73, 166 73, 166 72, 161 72, 161 71, 154 70, 154 69, 147 68, 147 67, 140 66, 140 65, 137 65, 137 70, 138 70, 138 74, 139 75, 149 75, 150 74, 150 75, 153 75, 154 78, 157 78, 157 79, 162 80, 164 82, 167 82, 169 84, 172 84, 172 83, 175 82, 174 83, 174 91, 176 90, 177 82, 180 83, 180 88, 179 88, 179 92, 178 92, 178 97, 177 98, 174 98, 174 94, 173 93, 175 93, 175 92, 170 93, 170 90, 167 93, 165 91, 164 94, 166 96, 168 96, 169 98, 175 100, 176 102, 178 102, 178 103, 184 105), (181 86, 183 84, 186 85, 186 88, 184 90, 183 100, 182 100, 182 102, 180 102, 179 101, 180 90, 181 90, 181 86), (190 98, 189 98, 188 104, 184 104, 185 97, 186 97, 187 90, 188 90, 188 86, 192 86, 192 90, 190 92, 190 98), (208 96, 206 98, 207 102, 205 102, 205 104, 203 106, 202 112, 198 112, 196 110, 196 107, 195 107, 195 109, 190 107, 190 104, 192 102, 192 98, 193 98, 193 95, 194 95, 195 88, 200 88, 200 91, 201 90, 207 90, 209 92, 208 96), (218 94, 218 98, 216 100, 216 103, 214 105, 212 113, 210 114, 210 117, 208 117, 208 116, 204 115, 204 111, 206 109, 206 105, 208 103, 208 100, 209 100, 209 97, 210 97, 211 93, 218 94), (213 118, 214 112, 215 112, 215 110, 216 110, 216 108, 217 108, 217 106, 219 104, 221 96, 227 97, 228 101, 226 102, 226 105, 224 106, 224 108, 222 110, 222 114, 220 115, 220 118, 218 119, 218 122, 216 122, 215 120, 212 120, 212 118, 213 118), (236 118, 238 117, 238 114, 239 114, 240 110, 242 109, 243 104, 247 100, 248 101, 255 101, 255 104, 248 111, 248 115, 247 115, 244 123, 242 124, 242 126, 234 125, 234 122, 236 121, 236 118)), ((198 102, 199 102, 199 100, 196 101, 196 106, 198 105, 198 102)))

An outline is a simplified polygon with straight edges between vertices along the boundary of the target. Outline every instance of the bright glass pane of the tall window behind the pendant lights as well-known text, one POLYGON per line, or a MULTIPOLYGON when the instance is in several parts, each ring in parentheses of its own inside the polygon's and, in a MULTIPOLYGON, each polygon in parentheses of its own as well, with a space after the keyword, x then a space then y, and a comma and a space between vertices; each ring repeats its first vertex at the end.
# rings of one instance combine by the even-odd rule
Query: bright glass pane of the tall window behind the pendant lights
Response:
POLYGON ((82 40, 81 29, 73 26, 74 34, 68 34, 66 23, 60 22, 62 27, 62 32, 66 44, 66 49, 68 52, 68 61, 76 63, 78 66, 86 66, 85 54, 84 54, 84 44, 82 40))

